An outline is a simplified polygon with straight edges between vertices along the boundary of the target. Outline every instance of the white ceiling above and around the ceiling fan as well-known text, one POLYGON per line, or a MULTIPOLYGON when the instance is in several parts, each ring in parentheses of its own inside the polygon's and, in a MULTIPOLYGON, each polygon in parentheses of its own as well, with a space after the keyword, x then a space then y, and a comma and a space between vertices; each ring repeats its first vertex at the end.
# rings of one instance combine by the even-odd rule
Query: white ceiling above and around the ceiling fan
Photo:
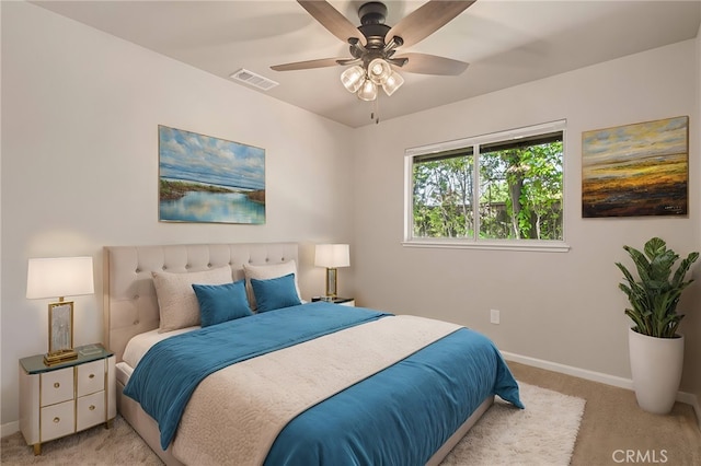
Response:
MULTIPOLYGON (((245 68, 279 83, 266 94, 344 125, 372 123, 371 104, 341 84, 344 68, 269 69, 349 57, 347 45, 294 0, 33 3, 227 80, 245 68)), ((330 3, 359 24, 357 10, 364 1, 330 3)), ((386 23, 392 26, 424 1, 384 3, 386 23)), ((405 83, 391 97, 380 96, 379 115, 389 119, 693 38, 700 23, 701 0, 478 0, 420 44, 400 48, 468 61, 468 70, 459 77, 400 70, 405 83)), ((231 81, 231 85, 246 84, 231 81)))

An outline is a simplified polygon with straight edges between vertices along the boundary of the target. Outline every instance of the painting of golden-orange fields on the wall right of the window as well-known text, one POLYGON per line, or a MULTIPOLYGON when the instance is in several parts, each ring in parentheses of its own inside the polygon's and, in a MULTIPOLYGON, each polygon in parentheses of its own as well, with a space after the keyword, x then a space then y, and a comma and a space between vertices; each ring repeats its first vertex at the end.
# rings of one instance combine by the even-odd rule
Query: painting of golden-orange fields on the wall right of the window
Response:
POLYGON ((689 117, 582 133, 582 217, 686 215, 689 117))

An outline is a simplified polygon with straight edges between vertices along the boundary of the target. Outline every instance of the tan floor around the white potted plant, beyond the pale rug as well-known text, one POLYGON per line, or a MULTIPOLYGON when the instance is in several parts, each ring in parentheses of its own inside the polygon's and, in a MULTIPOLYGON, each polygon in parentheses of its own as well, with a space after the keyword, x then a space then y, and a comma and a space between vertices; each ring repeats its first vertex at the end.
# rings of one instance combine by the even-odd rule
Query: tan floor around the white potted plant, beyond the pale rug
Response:
POLYGON ((677 403, 668 416, 652 415, 640 409, 632 391, 508 365, 518 381, 586 399, 573 466, 701 465, 701 431, 691 406, 677 403))

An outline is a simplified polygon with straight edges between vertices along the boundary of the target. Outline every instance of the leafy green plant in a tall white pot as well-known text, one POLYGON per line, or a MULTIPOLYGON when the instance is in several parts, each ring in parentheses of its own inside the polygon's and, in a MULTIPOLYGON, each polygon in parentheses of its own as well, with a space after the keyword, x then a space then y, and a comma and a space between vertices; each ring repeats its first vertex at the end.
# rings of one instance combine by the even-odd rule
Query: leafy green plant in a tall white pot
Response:
POLYGON ((683 363, 683 336, 677 334, 683 314, 677 313, 681 292, 693 279, 685 281, 699 253, 679 255, 659 237, 645 243, 644 253, 623 246, 633 259, 637 279, 621 263, 616 263, 627 283, 619 288, 628 295, 625 310, 633 321, 629 330, 629 351, 633 388, 637 405, 659 415, 668 413, 677 396, 683 363))

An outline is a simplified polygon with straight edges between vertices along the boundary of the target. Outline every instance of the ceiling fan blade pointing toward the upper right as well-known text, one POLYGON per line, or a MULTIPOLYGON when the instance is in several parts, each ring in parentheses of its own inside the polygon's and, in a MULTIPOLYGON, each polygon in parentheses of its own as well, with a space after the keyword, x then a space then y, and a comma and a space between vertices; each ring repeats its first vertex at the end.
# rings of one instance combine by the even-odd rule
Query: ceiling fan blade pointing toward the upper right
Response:
POLYGON ((474 3, 474 0, 430 0, 397 23, 384 36, 384 42, 391 40, 394 36, 400 36, 404 39, 403 47, 414 45, 448 24, 448 22, 467 10, 472 3, 474 3))

